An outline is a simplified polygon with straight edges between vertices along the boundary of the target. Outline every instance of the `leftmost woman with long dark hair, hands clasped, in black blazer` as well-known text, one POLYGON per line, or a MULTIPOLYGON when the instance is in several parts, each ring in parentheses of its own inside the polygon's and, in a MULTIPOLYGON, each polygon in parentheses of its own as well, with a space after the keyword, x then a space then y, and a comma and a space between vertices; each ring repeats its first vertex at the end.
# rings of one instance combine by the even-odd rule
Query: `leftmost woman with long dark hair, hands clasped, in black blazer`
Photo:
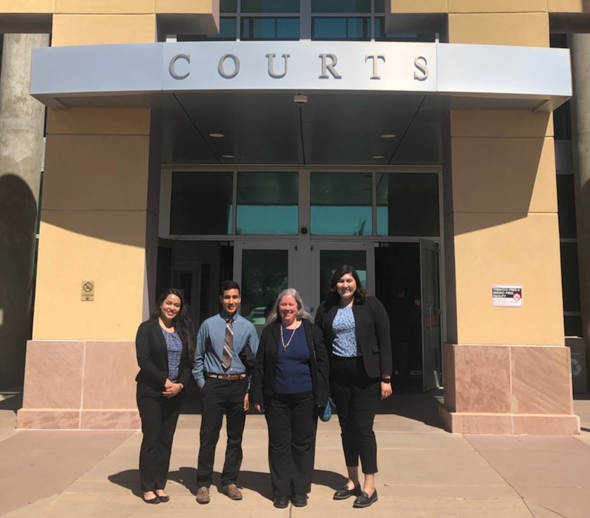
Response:
POLYGON ((195 356, 195 330, 182 294, 168 289, 158 299, 149 320, 135 339, 139 373, 137 409, 143 441, 139 453, 139 480, 148 504, 168 502, 165 493, 172 439, 195 356))

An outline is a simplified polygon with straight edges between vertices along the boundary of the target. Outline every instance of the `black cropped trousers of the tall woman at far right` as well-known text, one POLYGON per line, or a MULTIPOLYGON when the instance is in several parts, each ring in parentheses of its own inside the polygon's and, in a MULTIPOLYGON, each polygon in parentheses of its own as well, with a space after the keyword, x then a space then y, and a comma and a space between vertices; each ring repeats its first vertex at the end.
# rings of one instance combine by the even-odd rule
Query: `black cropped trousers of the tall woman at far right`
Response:
POLYGON ((380 378, 369 378, 362 357, 332 359, 330 394, 340 422, 346 465, 365 474, 377 473, 377 441, 373 422, 381 397, 380 378))

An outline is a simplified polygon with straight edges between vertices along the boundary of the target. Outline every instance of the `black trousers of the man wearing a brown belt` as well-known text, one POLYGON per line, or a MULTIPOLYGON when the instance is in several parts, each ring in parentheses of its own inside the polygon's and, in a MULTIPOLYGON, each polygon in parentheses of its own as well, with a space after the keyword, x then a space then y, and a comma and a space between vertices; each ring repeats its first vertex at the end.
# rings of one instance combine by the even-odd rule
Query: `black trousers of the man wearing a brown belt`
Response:
POLYGON ((209 487, 213 481, 215 448, 219 430, 226 419, 228 443, 225 447, 225 463, 221 473, 221 485, 235 484, 242 465, 242 436, 246 423, 244 398, 248 388, 246 378, 225 381, 207 378, 201 389, 201 448, 197 465, 197 485, 209 487))

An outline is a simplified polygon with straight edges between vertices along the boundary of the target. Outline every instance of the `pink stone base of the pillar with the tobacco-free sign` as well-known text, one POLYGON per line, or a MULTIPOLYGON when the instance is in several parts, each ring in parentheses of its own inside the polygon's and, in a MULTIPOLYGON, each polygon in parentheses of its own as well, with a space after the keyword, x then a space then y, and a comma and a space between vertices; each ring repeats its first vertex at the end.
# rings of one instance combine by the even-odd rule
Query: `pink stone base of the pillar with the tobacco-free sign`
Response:
POLYGON ((569 348, 444 344, 445 363, 445 403, 440 415, 450 432, 580 433, 569 348))

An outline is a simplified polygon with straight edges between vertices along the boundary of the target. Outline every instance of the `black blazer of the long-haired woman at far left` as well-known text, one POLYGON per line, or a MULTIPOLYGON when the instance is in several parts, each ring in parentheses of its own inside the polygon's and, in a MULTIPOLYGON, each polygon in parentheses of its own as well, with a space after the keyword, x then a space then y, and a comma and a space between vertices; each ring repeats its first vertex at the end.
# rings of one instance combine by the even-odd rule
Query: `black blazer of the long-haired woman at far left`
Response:
MULTIPOLYGON (((135 378, 137 393, 141 396, 159 398, 168 378, 168 350, 157 318, 139 324, 135 350, 139 365, 139 372, 135 378)), ((188 356, 188 344, 183 343, 177 383, 182 383, 184 387, 188 385, 190 370, 193 367, 188 356)))

